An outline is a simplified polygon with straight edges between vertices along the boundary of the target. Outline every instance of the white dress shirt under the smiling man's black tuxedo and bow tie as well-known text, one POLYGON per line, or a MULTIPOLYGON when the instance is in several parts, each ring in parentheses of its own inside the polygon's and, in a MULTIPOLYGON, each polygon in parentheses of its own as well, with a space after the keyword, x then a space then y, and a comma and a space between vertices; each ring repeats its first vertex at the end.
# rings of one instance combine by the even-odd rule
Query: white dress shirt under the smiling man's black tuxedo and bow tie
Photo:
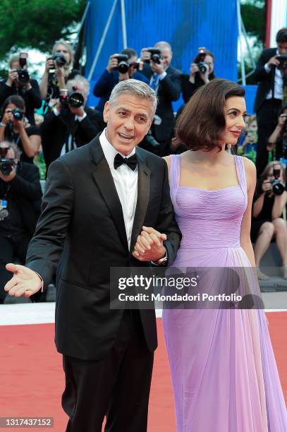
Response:
MULTIPOLYGON (((122 164, 118 169, 114 169, 114 158, 118 154, 116 149, 109 143, 106 138, 106 129, 102 131, 99 142, 102 145, 104 157, 106 162, 109 164, 111 175, 114 179, 118 198, 121 201, 121 208, 123 210, 123 220, 126 227, 126 237, 128 239, 128 247, 130 248, 130 239, 133 229, 133 220, 135 218, 135 208, 138 199, 138 166, 130 169, 127 164, 122 164)), ((130 157, 135 154, 135 148, 130 155, 125 156, 119 153, 123 157, 130 157)))

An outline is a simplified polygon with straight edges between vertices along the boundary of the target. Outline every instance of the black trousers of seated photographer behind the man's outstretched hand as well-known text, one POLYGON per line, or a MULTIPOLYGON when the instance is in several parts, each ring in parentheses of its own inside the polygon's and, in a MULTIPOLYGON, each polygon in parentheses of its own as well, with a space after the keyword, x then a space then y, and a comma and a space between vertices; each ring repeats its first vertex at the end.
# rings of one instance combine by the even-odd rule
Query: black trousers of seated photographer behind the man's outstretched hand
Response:
POLYGON ((20 259, 21 263, 25 263, 30 240, 31 237, 28 235, 20 236, 18 239, 0 235, 0 304, 6 298, 4 286, 13 276, 11 272, 6 270, 5 265, 13 262, 15 256, 20 259))

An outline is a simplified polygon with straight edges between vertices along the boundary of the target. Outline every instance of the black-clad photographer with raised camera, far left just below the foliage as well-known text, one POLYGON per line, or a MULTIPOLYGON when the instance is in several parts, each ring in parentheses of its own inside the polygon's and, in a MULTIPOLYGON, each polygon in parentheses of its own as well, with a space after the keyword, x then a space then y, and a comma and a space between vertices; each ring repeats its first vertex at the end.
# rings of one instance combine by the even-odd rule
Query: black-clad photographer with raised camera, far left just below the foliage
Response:
POLYGON ((36 80, 30 79, 27 70, 28 54, 20 53, 20 56, 12 56, 9 61, 10 71, 6 83, 0 82, 0 105, 7 97, 19 95, 25 102, 25 115, 30 124, 35 124, 35 109, 42 105, 39 85, 36 80))

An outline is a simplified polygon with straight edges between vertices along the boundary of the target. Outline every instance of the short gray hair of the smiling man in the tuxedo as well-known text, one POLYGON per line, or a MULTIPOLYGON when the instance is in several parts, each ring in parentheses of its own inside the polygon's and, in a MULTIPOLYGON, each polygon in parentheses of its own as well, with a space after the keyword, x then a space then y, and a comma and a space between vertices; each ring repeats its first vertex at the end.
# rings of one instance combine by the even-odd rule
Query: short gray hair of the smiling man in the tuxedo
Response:
POLYGON ((109 97, 109 102, 114 104, 118 96, 121 95, 133 95, 147 99, 152 104, 152 117, 157 109, 157 93, 152 90, 146 83, 139 80, 123 80, 114 86, 111 96, 109 97))

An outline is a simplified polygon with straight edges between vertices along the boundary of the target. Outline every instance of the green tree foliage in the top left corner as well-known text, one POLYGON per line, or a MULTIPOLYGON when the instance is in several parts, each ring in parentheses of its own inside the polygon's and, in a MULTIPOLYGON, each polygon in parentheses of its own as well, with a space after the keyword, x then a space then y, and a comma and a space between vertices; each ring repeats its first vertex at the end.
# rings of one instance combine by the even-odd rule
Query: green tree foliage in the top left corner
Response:
POLYGON ((60 38, 68 39, 68 27, 80 22, 85 0, 1 0, 0 59, 11 48, 51 50, 60 38))

